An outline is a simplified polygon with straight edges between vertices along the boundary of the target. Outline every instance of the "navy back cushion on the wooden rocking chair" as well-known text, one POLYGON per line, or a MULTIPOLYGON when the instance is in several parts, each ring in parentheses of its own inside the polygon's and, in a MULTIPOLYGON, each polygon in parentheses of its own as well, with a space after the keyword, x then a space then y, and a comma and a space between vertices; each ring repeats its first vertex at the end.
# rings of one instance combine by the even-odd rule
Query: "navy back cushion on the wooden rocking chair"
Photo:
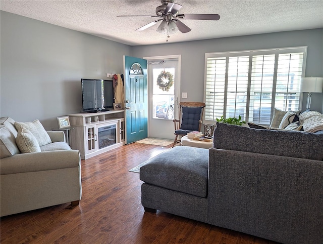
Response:
POLYGON ((181 130, 198 131, 202 107, 182 107, 181 130))

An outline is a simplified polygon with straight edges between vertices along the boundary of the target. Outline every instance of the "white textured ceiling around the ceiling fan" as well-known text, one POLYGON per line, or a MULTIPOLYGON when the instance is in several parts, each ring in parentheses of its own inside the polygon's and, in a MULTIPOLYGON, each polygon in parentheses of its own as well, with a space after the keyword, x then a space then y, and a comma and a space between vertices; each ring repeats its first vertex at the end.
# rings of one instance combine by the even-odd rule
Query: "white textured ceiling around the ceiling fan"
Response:
MULTIPOLYGON (((219 14, 218 21, 182 20, 192 30, 171 35, 169 43, 288 30, 323 27, 323 0, 175 0, 180 14, 219 14)), ((135 29, 156 20, 160 0, 153 1, 11 1, 1 0, 0 9, 72 30, 137 46, 165 44, 166 35, 156 32, 158 24, 135 29)))

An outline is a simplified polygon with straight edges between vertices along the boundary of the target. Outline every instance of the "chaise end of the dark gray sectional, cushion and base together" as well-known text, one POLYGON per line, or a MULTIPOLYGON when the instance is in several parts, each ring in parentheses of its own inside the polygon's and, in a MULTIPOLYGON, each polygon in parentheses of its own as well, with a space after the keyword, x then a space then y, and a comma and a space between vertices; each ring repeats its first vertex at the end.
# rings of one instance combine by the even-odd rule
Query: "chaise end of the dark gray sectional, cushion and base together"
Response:
POLYGON ((207 221, 208 149, 173 147, 141 167, 140 180, 145 211, 207 221))

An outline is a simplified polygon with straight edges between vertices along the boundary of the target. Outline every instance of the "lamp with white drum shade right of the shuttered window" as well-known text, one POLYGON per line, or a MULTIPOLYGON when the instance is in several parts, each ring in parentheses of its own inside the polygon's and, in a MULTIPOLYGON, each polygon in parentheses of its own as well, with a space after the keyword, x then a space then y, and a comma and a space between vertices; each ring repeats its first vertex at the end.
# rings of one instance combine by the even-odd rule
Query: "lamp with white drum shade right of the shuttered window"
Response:
POLYGON ((312 93, 323 92, 323 77, 302 77, 300 92, 307 92, 306 110, 311 106, 312 93))

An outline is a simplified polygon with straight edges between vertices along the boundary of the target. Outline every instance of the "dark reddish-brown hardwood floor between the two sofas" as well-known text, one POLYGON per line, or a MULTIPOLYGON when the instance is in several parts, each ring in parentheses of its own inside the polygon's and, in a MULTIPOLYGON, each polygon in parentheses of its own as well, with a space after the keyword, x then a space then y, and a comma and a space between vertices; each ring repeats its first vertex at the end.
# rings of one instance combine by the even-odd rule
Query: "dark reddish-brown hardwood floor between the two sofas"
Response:
POLYGON ((1 218, 1 243, 274 243, 157 211, 144 213, 129 169, 167 150, 133 143, 82 160, 82 199, 1 218))

